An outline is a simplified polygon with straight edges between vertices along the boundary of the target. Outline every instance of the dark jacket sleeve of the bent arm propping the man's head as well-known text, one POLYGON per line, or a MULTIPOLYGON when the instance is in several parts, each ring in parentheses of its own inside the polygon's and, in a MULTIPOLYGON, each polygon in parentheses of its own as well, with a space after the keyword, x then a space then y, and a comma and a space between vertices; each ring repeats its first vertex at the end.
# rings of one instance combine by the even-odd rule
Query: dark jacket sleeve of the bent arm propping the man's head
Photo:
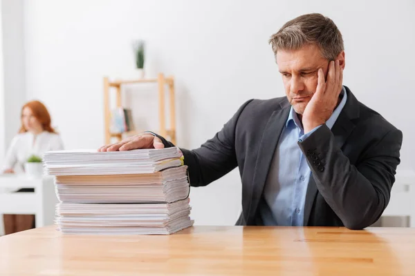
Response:
POLYGON ((365 228, 382 215, 400 163, 402 139, 400 130, 389 130, 356 166, 335 146, 325 124, 299 142, 317 189, 347 228, 365 228))

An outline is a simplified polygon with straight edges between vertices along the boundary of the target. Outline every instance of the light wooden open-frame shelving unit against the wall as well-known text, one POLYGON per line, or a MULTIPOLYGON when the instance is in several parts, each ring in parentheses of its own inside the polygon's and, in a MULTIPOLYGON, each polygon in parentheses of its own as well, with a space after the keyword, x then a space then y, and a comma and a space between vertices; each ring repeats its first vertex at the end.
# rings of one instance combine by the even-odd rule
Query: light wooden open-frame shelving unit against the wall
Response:
MULTIPOLYGON (((174 99, 174 77, 165 77, 163 73, 159 73, 156 79, 135 79, 124 81, 109 81, 108 77, 104 77, 104 130, 105 130, 105 144, 111 143, 111 138, 116 138, 120 141, 123 135, 136 135, 141 131, 111 133, 111 108, 110 108, 110 92, 111 88, 116 89, 116 106, 121 107, 121 88, 124 85, 136 83, 158 83, 158 115, 159 130, 156 130, 159 135, 169 139, 173 144, 176 144, 176 108, 174 99), (165 86, 169 91, 169 128, 166 128, 166 97, 165 86)), ((133 110, 132 110, 133 111, 133 110)), ((142 130, 144 131, 144 130, 142 130)))

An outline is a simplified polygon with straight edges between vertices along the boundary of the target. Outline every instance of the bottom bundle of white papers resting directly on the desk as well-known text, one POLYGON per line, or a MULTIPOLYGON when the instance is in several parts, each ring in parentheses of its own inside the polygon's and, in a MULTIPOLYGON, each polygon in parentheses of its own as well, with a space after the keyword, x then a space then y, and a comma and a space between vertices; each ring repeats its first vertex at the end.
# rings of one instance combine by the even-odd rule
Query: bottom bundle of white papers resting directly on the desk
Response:
POLYGON ((169 235, 190 227, 189 199, 171 204, 57 204, 64 234, 169 235))

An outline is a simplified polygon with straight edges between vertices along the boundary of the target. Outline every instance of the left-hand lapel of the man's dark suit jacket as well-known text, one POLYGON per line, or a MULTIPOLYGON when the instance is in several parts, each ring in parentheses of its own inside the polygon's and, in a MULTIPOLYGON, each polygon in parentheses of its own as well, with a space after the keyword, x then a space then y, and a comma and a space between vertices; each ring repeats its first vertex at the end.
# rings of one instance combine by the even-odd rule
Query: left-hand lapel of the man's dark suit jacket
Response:
POLYGON ((246 216, 246 222, 248 225, 253 224, 255 221, 257 207, 264 190, 268 170, 270 168, 271 161, 273 160, 275 149, 277 148, 279 136, 281 135, 282 130, 284 129, 284 124, 288 118, 289 111, 290 104, 288 101, 280 103, 279 108, 275 110, 268 119, 264 134, 262 135, 251 186, 252 190, 250 194, 252 197, 246 216))

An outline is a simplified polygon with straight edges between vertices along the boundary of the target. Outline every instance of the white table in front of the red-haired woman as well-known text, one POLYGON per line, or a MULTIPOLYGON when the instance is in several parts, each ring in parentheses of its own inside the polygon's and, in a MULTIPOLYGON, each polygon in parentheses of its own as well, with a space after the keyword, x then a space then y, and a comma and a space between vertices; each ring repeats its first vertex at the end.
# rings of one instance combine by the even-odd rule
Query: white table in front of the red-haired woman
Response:
POLYGON ((54 177, 29 178, 26 175, 0 175, 0 216, 35 215, 36 227, 52 225, 55 219, 54 177), (35 188, 34 193, 12 193, 19 188, 35 188))

